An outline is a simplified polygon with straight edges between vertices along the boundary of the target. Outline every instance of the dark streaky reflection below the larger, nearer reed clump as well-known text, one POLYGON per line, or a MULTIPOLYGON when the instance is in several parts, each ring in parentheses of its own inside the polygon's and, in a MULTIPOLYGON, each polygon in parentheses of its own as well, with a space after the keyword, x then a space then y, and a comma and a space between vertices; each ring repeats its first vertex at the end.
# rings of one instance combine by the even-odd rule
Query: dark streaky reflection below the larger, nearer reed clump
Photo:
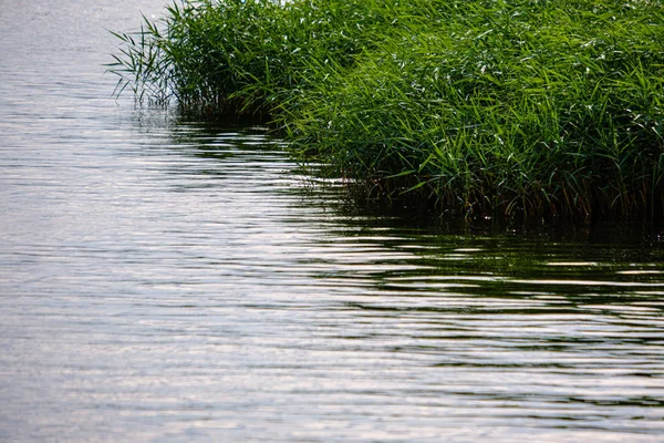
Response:
MULTIPOLYGON (((242 151, 240 163, 255 168, 250 154, 242 151)), ((250 333, 270 338, 261 346, 300 358, 322 353, 304 365, 277 364, 304 378, 305 369, 315 372, 318 388, 297 384, 295 392, 304 404, 325 402, 329 415, 317 420, 343 415, 350 404, 375 418, 378 405, 406 402, 452 426, 458 423, 443 416, 454 411, 480 425, 593 430, 606 439, 662 431, 653 409, 664 394, 664 282, 653 272, 661 249, 432 233, 396 217, 330 210, 345 204, 333 188, 302 196, 269 182, 279 195, 297 196, 283 214, 271 213, 292 228, 277 241, 271 234, 249 241, 264 258, 252 276, 270 289, 255 288, 261 297, 239 307, 280 320, 291 312, 276 323, 288 330, 278 339, 271 329, 250 333), (271 251, 280 253, 274 260, 271 251), (345 400, 332 400, 339 395, 345 400)), ((392 413, 417 423, 414 435, 436 433, 413 411, 392 413)), ((367 429, 384 430, 381 423, 367 429)))

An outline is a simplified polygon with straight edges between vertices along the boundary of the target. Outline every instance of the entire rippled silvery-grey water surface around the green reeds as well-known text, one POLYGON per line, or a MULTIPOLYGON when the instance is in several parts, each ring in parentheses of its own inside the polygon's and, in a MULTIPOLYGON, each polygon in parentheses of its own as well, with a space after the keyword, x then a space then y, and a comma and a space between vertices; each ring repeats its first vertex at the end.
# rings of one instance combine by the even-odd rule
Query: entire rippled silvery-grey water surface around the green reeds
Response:
POLYGON ((656 236, 449 229, 136 112, 138 10, 0 12, 1 441, 664 439, 656 236))

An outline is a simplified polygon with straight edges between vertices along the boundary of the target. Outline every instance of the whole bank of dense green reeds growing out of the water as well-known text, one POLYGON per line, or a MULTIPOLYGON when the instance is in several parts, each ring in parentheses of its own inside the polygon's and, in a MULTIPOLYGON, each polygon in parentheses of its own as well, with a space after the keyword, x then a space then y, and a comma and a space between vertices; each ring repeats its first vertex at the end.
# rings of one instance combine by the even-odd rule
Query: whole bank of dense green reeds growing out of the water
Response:
POLYGON ((120 89, 268 119, 381 194, 661 215, 662 1, 189 1, 118 37, 120 89))

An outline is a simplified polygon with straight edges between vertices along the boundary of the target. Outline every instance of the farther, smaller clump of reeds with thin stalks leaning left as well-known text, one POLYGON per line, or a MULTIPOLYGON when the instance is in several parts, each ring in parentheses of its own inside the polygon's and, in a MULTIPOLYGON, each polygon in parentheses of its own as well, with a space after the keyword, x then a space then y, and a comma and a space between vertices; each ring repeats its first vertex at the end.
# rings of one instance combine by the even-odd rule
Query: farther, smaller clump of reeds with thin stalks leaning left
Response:
POLYGON ((175 99, 185 111, 276 114, 373 47, 391 27, 388 3, 176 2, 163 21, 115 33, 123 44, 110 71, 120 76, 116 92, 128 86, 141 102, 175 99))

